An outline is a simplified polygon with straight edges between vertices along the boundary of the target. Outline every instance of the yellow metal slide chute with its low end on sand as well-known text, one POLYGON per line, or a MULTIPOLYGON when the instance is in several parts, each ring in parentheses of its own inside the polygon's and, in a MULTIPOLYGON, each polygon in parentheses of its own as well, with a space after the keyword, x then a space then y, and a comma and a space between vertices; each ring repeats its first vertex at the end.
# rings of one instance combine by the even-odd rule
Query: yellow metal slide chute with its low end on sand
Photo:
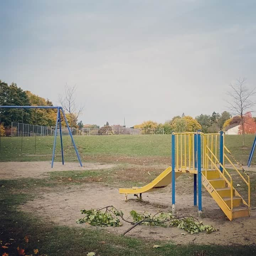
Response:
MULTIPOLYGON (((175 172, 175 178, 179 177, 181 172, 175 172)), ((168 186, 172 181, 172 168, 169 166, 165 169, 159 176, 157 176, 153 181, 148 183, 143 187, 132 187, 132 188, 119 188, 120 194, 141 194, 152 191, 157 188, 162 188, 168 186)))

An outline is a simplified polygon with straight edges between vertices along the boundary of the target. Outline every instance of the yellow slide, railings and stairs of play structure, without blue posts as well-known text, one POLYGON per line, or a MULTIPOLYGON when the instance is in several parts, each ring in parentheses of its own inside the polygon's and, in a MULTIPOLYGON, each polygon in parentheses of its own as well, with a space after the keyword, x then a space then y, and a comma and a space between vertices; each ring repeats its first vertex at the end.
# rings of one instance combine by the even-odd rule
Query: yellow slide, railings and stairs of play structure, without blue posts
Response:
MULTIPOLYGON (((234 156, 230 153, 229 149, 225 146, 225 136, 223 135, 223 159, 219 160, 217 158, 218 154, 218 143, 220 134, 219 133, 210 133, 204 134, 202 132, 184 132, 184 133, 172 133, 175 136, 175 178, 180 176, 183 172, 190 172, 197 174, 197 168, 195 168, 195 148, 194 145, 197 143, 195 141, 195 134, 201 134, 203 136, 202 140, 202 180, 203 185, 206 187, 208 192, 214 198, 214 200, 218 203, 220 208, 226 214, 226 216, 232 220, 236 217, 247 216, 250 215, 250 177, 246 173, 246 171, 242 168, 239 162, 234 158, 234 156), (229 156, 230 158, 229 158, 229 156), (237 164, 242 172, 245 174, 246 178, 242 175, 241 171, 235 166, 237 164), (243 182, 248 187, 248 201, 246 202, 244 198, 236 191, 233 186, 233 180, 225 168, 225 161, 229 162, 230 165, 234 168, 234 170, 239 174, 242 178, 243 182), (222 171, 221 171, 222 170, 222 171), (208 173, 209 179, 208 179, 208 173), (213 171, 218 174, 219 178, 210 178, 214 177, 213 171), (215 184, 215 185, 214 185, 215 184), (215 188, 214 188, 215 186, 215 188), (226 196, 221 196, 218 192, 219 188, 225 186, 226 188, 226 196), (228 191, 230 189, 230 199, 228 195, 228 191), (228 198, 227 198, 228 197, 228 198), (235 207, 240 205, 242 202, 244 205, 248 206, 248 212, 246 215, 246 209, 238 212, 234 210, 234 200, 235 200, 235 207), (244 212, 243 212, 244 211, 244 212), (244 214, 244 215, 243 215, 244 214)), ((120 188, 119 193, 126 194, 141 194, 145 192, 152 191, 156 188, 161 188, 169 185, 172 182, 172 168, 168 167, 165 171, 163 171, 158 177, 156 177, 152 182, 143 186, 143 187, 132 187, 132 188, 120 188)))

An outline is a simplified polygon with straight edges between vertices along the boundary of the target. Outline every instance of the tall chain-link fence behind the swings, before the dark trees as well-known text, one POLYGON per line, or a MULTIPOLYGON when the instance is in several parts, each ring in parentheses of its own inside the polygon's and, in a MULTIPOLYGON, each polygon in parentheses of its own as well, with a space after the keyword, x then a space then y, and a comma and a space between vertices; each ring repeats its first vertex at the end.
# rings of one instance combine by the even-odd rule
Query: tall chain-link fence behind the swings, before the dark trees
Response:
POLYGON ((49 135, 47 126, 37 126, 33 124, 16 123, 16 122, 12 122, 11 134, 9 133, 6 134, 6 136, 29 137, 29 136, 35 136, 35 135, 37 136, 49 135))

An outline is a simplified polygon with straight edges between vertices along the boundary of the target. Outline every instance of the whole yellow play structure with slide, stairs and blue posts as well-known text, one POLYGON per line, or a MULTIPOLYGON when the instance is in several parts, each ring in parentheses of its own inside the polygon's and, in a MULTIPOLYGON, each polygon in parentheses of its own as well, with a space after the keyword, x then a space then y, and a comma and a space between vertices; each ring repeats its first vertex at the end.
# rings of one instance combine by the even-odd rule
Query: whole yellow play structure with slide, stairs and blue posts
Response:
POLYGON ((250 216, 250 177, 225 146, 225 134, 173 133, 172 166, 143 187, 119 188, 119 193, 142 193, 172 185, 172 212, 175 212, 175 180, 184 174, 194 176, 194 205, 202 213, 202 186, 209 192, 229 220, 250 216), (219 158, 217 157, 219 155, 219 158), (225 168, 225 162, 232 169, 225 168), (234 175, 244 183, 242 193, 233 185, 234 175), (246 191, 246 193, 245 193, 246 191))

